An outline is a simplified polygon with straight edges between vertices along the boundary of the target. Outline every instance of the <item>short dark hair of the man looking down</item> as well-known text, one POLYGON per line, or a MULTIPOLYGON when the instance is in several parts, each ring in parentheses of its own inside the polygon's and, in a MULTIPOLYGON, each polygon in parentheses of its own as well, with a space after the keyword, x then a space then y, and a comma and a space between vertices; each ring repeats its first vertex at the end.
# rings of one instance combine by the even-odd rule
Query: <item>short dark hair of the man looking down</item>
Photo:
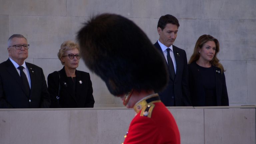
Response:
POLYGON ((180 26, 179 21, 178 21, 178 19, 175 16, 167 14, 167 15, 161 16, 159 18, 159 21, 158 21, 158 24, 157 24, 157 28, 160 27, 161 30, 163 30, 165 28, 165 26, 167 24, 169 24, 169 23, 177 25, 178 28, 180 26))

